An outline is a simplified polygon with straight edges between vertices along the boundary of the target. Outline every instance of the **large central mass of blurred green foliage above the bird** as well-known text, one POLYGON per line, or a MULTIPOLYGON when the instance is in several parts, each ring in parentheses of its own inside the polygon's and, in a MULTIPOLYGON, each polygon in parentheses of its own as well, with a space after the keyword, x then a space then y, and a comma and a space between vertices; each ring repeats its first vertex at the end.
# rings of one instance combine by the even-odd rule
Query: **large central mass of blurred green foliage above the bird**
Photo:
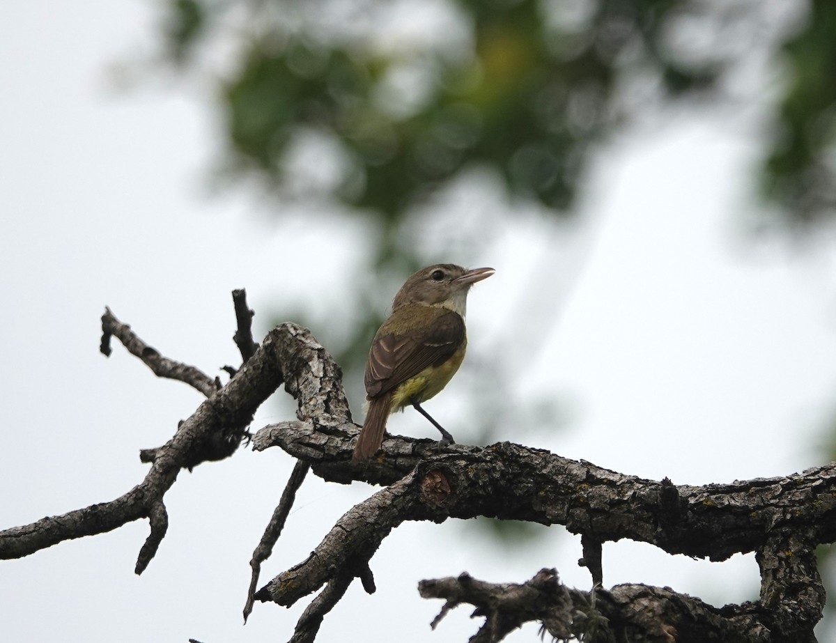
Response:
POLYGON ((237 169, 281 188, 293 140, 315 130, 344 161, 329 196, 396 225, 474 164, 568 212, 594 142, 629 116, 628 84, 641 76, 681 97, 721 73, 721 59, 680 55, 687 43, 666 38, 700 6, 451 0, 449 38, 392 43, 391 3, 173 0, 162 36, 186 66, 237 25, 220 101, 237 169))

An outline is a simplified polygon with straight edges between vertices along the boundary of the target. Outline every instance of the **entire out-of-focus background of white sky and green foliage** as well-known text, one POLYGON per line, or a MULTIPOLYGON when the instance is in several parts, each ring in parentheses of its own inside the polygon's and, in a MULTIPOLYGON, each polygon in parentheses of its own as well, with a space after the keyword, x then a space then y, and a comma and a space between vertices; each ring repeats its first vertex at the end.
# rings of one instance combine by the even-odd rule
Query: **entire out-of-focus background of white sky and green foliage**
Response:
MULTIPOLYGON (((497 269, 428 406, 458 441, 691 484, 833 459, 827 0, 18 0, 0 54, 0 528, 119 496, 201 401, 99 355, 104 305, 223 376, 247 288, 257 336, 291 319, 337 355, 359 419, 370 337, 438 260, 497 269)), ((253 429, 292 415, 279 393, 253 429)), ((405 413, 390 431, 435 430, 405 413)), ((288 638, 303 604, 241 610, 292 466, 242 448, 183 472, 141 577, 145 523, 3 561, 0 640, 288 638)), ((263 580, 371 492, 306 481, 263 580)), ((404 525, 377 594, 349 589, 320 639, 466 640, 466 608, 430 631, 418 580, 554 566, 588 588, 579 556, 559 527, 404 525)), ((752 554, 630 542, 605 545, 604 581, 715 605, 758 589, 752 554)))

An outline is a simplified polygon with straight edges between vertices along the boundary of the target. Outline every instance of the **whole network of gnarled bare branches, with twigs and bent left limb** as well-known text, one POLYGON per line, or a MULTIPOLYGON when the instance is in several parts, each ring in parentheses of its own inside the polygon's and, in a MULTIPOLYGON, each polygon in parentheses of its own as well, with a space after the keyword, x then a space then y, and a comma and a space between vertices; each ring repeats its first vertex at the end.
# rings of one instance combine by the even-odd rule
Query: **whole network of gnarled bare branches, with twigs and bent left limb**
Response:
MULTIPOLYGON (((246 309, 242 297, 236 304, 246 309)), ((244 326, 239 319, 239 330, 244 326)), ((250 345, 247 332, 241 332, 242 355, 250 345)), ((264 427, 253 447, 278 446, 299 462, 253 553, 250 593, 252 600, 293 605, 324 586, 298 621, 293 641, 314 640, 324 615, 354 578, 367 591, 375 590, 370 560, 400 523, 476 516, 563 524, 581 534, 581 562, 594 588, 590 593, 564 588, 553 570, 517 585, 486 584, 466 574, 424 581, 422 595, 446 600, 436 625, 461 603, 476 605, 475 615, 485 616, 472 640, 501 640, 526 620, 540 620, 544 631, 564 640, 579 635, 614 643, 815 640, 813 625, 821 617, 824 591, 814 549, 836 539, 836 463, 788 477, 675 486, 667 478, 656 482, 628 476, 509 442, 440 448, 434 441, 389 436, 375 458, 355 464, 351 441, 358 427, 351 421, 339 366, 308 330, 278 326, 221 390, 215 390, 214 382, 206 388, 200 371, 161 358, 108 310, 103 317, 105 354, 111 336, 155 372, 190 382, 208 399, 171 441, 154 450, 140 485, 110 503, 0 532, 0 558, 18 558, 64 539, 149 518, 150 535, 137 561, 141 573, 165 536, 163 497, 178 472, 234 451, 252 413, 284 381, 298 401, 298 420, 264 427), (308 467, 325 480, 364 480, 385 487, 345 513, 308 559, 253 594, 260 564, 276 543, 308 467), (604 590, 599 586, 602 546, 620 538, 711 560, 754 551, 762 577, 760 600, 716 609, 671 589, 619 585, 604 590)))

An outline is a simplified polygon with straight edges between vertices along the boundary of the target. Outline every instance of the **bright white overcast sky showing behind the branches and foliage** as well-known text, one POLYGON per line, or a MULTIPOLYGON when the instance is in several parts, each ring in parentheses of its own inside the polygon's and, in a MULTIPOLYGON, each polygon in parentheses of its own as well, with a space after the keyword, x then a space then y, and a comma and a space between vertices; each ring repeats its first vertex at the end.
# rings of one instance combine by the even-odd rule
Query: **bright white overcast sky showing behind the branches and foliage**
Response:
MULTIPOLYGON (((139 449, 166 441, 201 401, 118 344, 110 360, 99 355, 104 305, 163 354, 215 374, 236 360, 232 288, 247 288, 263 334, 283 301, 350 292, 341 266, 362 261, 358 227, 275 225, 265 204, 210 195, 216 134, 193 92, 173 81, 112 90, 109 65, 147 51, 152 18, 139 3, 0 5, 0 528, 127 491, 145 474, 139 449), (303 271, 310 253, 315 273, 303 271)), ((706 110, 637 128, 596 167, 579 226, 520 217, 482 254, 451 258, 497 268, 468 305, 469 360, 514 341, 507 316, 489 306, 518 305, 520 283, 536 286, 523 298, 533 313, 558 315, 537 360, 521 350, 509 362, 513 390, 502 393, 515 404, 530 399, 525 390, 553 394, 569 410, 566 427, 544 434, 510 422, 501 439, 676 483, 823 462, 815 445, 836 406, 833 242, 799 252, 742 232, 754 212, 752 117, 706 110)), ((454 385, 432 404, 455 415, 454 385)), ((268 405, 253 428, 285 417, 268 405)), ((392 430, 430 435, 410 414, 392 430)), ((466 441, 466 428, 454 434, 466 441)), ((166 496, 168 535, 141 577, 133 567, 146 523, 0 562, 0 640, 286 639, 306 601, 257 605, 246 627, 241 610, 248 560, 292 464, 281 452, 242 451, 182 473, 166 496)), ((263 581, 371 491, 305 482, 263 581)), ((368 641, 395 632, 463 641, 477 627, 466 608, 430 633, 440 605, 418 597, 419 579, 467 570, 522 581, 556 566, 585 588, 579 555, 561 528, 499 555, 469 525, 406 525, 372 560, 378 593, 353 586, 320 640, 356 631, 368 641)), ((752 556, 708 564, 609 543, 604 576, 716 603, 757 595, 752 556)), ((508 640, 535 635, 529 626, 508 640)))

